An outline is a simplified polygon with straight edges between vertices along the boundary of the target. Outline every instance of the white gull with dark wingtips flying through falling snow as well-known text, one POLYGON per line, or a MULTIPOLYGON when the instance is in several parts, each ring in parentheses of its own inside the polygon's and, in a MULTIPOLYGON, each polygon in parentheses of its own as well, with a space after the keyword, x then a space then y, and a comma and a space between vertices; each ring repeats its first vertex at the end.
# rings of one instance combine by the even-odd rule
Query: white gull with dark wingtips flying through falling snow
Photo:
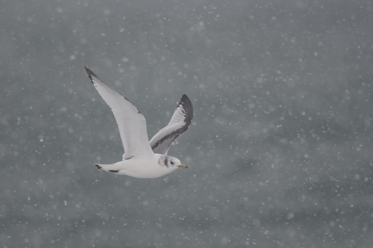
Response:
POLYGON ((149 141, 145 117, 140 110, 93 71, 84 68, 100 96, 113 111, 125 151, 122 161, 95 164, 98 170, 137 178, 156 178, 178 168, 188 168, 177 158, 167 156, 172 142, 188 130, 193 119, 193 106, 186 95, 181 97, 167 126, 149 141))

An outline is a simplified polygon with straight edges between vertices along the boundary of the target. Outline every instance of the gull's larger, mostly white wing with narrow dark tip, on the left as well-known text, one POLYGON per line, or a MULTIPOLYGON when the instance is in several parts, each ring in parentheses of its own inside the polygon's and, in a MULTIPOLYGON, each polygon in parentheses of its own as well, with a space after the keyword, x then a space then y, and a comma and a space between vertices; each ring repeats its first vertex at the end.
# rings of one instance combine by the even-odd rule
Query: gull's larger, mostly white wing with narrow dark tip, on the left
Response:
POLYGON ((125 151, 123 160, 153 155, 148 141, 146 120, 142 113, 93 71, 84 68, 100 96, 113 111, 125 151))

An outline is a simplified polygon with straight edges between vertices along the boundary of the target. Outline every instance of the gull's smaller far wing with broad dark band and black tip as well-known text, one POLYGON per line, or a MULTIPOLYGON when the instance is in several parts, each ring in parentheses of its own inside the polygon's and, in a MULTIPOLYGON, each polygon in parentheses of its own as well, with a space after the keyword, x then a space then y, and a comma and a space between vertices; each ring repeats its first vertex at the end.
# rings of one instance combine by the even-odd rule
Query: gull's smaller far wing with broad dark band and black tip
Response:
POLYGON ((153 152, 166 155, 172 142, 188 130, 192 119, 192 103, 186 95, 183 95, 168 125, 151 138, 150 146, 153 152))

